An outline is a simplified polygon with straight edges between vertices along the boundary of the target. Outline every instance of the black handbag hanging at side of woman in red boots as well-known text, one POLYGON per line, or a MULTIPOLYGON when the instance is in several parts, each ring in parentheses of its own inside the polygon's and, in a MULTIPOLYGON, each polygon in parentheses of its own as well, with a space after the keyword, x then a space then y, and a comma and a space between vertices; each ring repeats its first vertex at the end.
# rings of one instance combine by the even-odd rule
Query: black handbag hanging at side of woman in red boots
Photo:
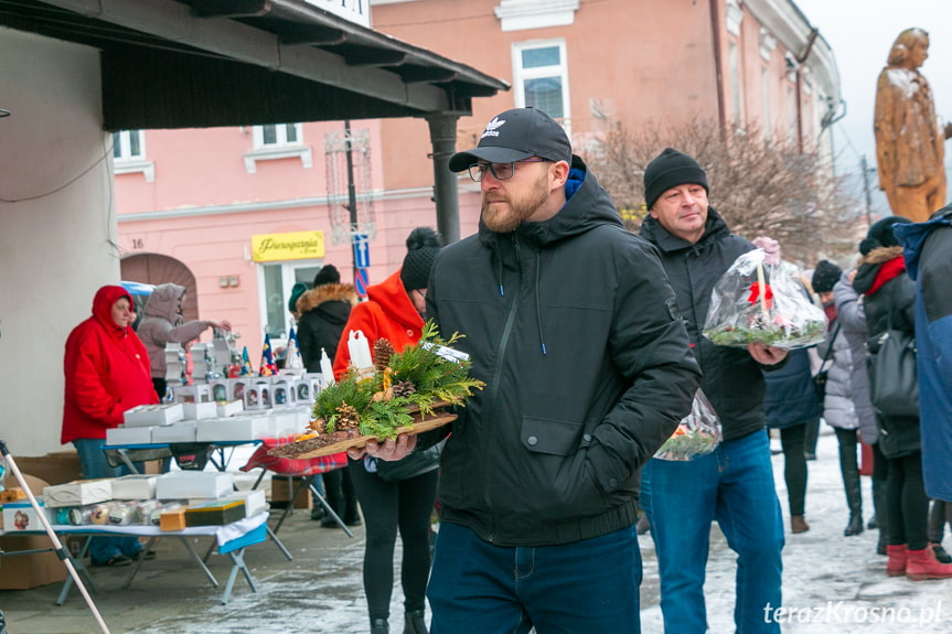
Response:
MULTIPOLYGON (((891 326, 891 324, 890 324, 891 326)), ((869 400, 880 415, 919 416, 916 337, 889 327, 866 342, 869 400)))

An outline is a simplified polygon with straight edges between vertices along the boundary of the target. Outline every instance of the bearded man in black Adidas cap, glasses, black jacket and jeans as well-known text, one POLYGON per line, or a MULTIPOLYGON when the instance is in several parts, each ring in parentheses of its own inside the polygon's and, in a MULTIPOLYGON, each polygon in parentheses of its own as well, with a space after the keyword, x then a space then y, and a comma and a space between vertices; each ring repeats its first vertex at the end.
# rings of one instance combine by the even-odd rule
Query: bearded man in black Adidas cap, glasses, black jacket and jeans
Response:
POLYGON ((431 633, 639 632, 639 470, 698 383, 674 293, 542 110, 449 166, 482 217, 437 257, 427 312, 486 386, 443 449, 431 633))

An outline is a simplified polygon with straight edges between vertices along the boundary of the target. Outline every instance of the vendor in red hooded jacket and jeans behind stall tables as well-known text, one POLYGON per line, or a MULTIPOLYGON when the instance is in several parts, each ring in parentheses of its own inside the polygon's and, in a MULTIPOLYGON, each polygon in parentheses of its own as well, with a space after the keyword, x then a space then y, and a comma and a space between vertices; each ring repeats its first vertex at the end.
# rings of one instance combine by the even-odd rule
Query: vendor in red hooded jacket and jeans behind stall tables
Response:
MULTIPOLYGON (((93 316, 66 340, 63 372, 66 390, 60 441, 72 442, 87 480, 129 473, 110 466, 103 452, 106 430, 122 422, 122 412, 159 402, 149 375, 149 353, 132 331, 132 297, 122 287, 106 286, 93 299, 93 316)), ((142 556, 135 537, 94 537, 93 566, 128 566, 142 556)))

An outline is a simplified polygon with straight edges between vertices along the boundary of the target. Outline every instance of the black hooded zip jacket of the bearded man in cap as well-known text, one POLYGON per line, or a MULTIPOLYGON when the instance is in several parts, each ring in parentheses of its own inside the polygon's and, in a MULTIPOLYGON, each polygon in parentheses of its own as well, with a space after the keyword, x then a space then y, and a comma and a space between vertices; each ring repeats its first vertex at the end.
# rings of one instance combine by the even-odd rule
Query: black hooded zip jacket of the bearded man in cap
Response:
POLYGON ((566 194, 548 221, 511 234, 481 224, 442 249, 427 293, 486 384, 443 449, 441 520, 501 546, 633 524, 639 469, 698 383, 654 248, 622 227, 578 157, 566 194))

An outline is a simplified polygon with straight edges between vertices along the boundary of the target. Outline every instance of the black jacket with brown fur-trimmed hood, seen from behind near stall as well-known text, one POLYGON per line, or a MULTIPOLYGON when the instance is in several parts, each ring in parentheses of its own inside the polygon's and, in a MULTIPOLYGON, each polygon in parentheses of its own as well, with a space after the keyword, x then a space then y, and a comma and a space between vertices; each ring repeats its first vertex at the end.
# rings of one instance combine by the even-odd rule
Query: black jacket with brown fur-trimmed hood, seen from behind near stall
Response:
POLYGON ((301 361, 308 372, 321 372, 321 348, 334 363, 341 333, 357 305, 357 291, 353 284, 321 284, 304 291, 296 304, 301 313, 298 322, 298 345, 301 361))

